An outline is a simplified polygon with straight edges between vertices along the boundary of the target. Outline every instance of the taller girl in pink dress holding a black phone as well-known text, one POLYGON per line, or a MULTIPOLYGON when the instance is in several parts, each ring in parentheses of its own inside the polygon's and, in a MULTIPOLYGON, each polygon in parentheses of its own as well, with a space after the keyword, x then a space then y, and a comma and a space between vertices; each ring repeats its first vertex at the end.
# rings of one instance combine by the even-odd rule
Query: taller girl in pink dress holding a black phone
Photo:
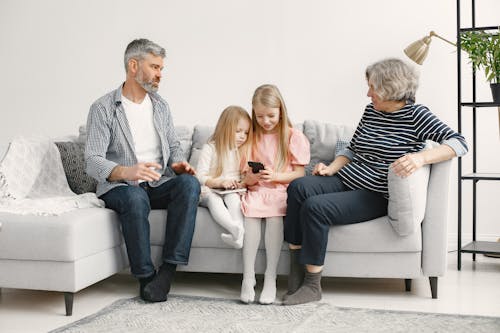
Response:
POLYGON ((255 298, 255 258, 261 224, 265 221, 266 271, 259 302, 271 304, 276 298, 276 270, 283 244, 286 188, 292 180, 305 174, 304 166, 310 158, 309 141, 292 127, 281 93, 273 85, 255 90, 252 127, 252 149, 247 158, 264 164, 264 170, 255 174, 250 168, 243 170, 248 191, 241 198, 245 236, 240 298, 244 303, 253 302, 255 298))

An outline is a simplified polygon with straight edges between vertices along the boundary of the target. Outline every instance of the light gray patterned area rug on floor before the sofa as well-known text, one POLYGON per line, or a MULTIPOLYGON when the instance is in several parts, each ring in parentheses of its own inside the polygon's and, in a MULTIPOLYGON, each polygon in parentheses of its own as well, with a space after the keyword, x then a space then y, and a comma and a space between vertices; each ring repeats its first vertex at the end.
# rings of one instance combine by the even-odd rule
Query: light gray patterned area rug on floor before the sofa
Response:
POLYGON ((236 300, 169 295, 164 303, 116 301, 60 332, 500 332, 500 318, 341 308, 242 304, 236 300))

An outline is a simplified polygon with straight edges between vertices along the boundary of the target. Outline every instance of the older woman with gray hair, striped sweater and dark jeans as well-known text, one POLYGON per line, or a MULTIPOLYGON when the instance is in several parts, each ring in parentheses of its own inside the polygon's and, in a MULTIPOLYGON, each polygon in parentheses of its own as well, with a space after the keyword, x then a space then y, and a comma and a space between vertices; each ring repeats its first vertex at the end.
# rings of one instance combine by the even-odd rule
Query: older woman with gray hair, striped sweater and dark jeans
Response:
POLYGON ((465 139, 429 109, 415 103, 418 76, 399 59, 366 69, 368 97, 351 142, 335 159, 314 167, 313 175, 288 187, 285 240, 290 247, 288 292, 283 304, 321 299, 321 271, 333 225, 387 215, 389 168, 407 177, 425 164, 467 152, 465 139), (440 143, 423 150, 426 140, 440 143))

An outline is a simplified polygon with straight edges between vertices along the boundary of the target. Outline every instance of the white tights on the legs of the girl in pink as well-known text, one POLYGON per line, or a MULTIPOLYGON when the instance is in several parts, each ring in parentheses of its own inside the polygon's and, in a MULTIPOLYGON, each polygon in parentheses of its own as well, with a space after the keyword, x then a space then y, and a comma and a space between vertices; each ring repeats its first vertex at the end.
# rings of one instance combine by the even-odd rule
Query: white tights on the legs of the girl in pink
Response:
MULTIPOLYGON (((245 217, 243 282, 241 284, 241 301, 244 303, 253 302, 255 299, 255 258, 261 239, 261 223, 260 218, 245 217)), ((276 298, 276 270, 283 245, 283 217, 268 217, 265 219, 265 225, 266 271, 259 302, 271 304, 276 298)))

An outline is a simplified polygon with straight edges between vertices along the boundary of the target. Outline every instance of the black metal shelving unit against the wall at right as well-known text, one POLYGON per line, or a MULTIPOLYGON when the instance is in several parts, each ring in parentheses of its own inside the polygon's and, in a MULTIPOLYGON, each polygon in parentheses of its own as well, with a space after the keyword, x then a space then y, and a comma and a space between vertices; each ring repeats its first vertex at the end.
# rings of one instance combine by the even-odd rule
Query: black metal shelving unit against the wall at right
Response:
POLYGON ((462 108, 464 112, 472 111, 472 145, 469 142, 469 149, 472 150, 472 173, 463 174, 462 170, 462 158, 458 158, 458 256, 457 256, 457 267, 458 270, 462 268, 462 253, 472 253, 472 260, 476 260, 477 253, 491 253, 500 254, 500 242, 484 242, 478 241, 476 239, 476 226, 477 226, 477 183, 479 181, 499 181, 500 173, 480 173, 477 172, 477 110, 481 108, 497 108, 500 107, 499 103, 493 102, 480 102, 476 100, 476 73, 472 73, 472 101, 463 102, 462 101, 462 59, 461 59, 461 45, 460 45, 460 34, 466 31, 478 31, 478 30, 496 30, 496 27, 477 27, 476 26, 476 1, 472 1, 472 26, 471 27, 461 27, 460 23, 460 2, 462 0, 457 0, 457 74, 458 74, 458 87, 457 87, 457 100, 458 100, 458 131, 462 131, 462 108), (462 246, 462 186, 464 181, 472 181, 472 242, 462 246))

